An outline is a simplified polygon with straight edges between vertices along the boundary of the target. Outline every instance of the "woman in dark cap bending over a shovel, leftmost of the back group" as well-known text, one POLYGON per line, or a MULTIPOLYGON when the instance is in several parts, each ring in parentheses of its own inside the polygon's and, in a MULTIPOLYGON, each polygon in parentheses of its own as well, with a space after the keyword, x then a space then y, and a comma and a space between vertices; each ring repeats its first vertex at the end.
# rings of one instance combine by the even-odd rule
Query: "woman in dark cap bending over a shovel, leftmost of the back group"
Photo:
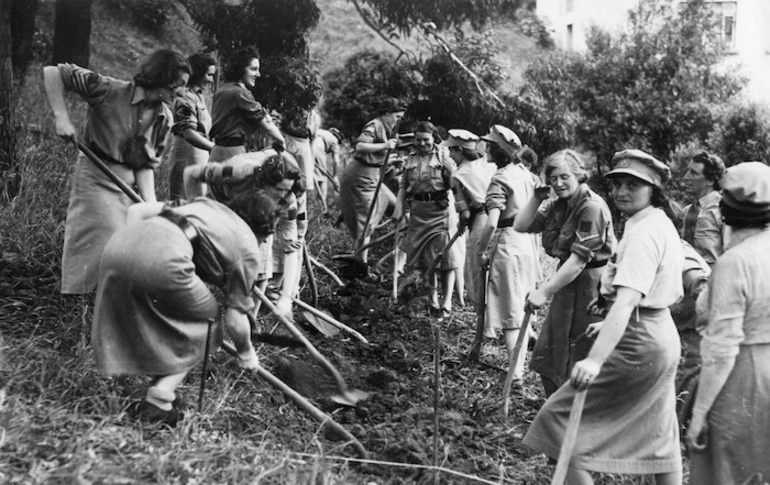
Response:
MULTIPOLYGON (((394 98, 386 98, 377 109, 377 118, 368 122, 356 139, 353 163, 340 176, 340 207, 342 219, 350 235, 360 244, 368 242, 371 229, 365 228, 369 207, 374 200, 382 166, 387 163, 391 150, 396 148, 396 127, 404 116, 404 104, 394 98), (366 236, 366 237, 365 237, 366 236)), ((396 196, 387 187, 380 187, 374 202, 369 226, 376 227, 389 207, 396 203, 396 196)), ((361 253, 366 261, 368 251, 361 253)))

